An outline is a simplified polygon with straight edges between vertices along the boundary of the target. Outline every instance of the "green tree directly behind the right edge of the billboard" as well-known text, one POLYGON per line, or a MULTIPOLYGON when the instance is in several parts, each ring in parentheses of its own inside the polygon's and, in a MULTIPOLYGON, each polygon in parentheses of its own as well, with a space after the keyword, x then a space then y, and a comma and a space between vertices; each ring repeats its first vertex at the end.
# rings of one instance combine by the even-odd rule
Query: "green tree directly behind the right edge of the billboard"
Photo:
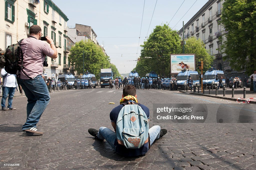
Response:
POLYGON ((204 71, 207 71, 209 68, 211 68, 213 56, 211 56, 205 49, 205 44, 200 39, 197 40, 195 37, 188 38, 185 45, 185 54, 196 55, 196 71, 201 72, 201 70, 198 69, 197 63, 201 60, 204 62, 204 71))

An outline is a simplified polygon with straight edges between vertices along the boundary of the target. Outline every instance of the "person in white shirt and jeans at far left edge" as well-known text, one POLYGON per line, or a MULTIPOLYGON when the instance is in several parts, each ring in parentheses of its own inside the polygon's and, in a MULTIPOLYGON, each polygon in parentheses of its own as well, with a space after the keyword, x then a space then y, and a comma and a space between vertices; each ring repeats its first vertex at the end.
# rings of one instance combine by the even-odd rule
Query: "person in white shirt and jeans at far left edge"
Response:
POLYGON ((13 104, 13 96, 15 93, 15 88, 17 87, 16 83, 16 75, 15 74, 9 74, 5 71, 5 67, 1 70, 1 75, 3 76, 3 97, 1 101, 2 110, 15 110, 16 108, 12 107, 13 104), (8 97, 8 107, 5 106, 5 102, 8 97))

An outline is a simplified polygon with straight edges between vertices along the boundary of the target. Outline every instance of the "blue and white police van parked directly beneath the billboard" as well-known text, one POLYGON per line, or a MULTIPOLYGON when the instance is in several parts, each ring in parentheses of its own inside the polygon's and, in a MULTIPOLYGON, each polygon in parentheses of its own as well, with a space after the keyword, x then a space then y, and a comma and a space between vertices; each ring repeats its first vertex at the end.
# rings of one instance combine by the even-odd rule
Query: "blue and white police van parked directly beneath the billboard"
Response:
POLYGON ((197 71, 180 71, 177 75, 177 88, 185 89, 188 79, 191 77, 193 85, 199 85, 199 74, 197 71))

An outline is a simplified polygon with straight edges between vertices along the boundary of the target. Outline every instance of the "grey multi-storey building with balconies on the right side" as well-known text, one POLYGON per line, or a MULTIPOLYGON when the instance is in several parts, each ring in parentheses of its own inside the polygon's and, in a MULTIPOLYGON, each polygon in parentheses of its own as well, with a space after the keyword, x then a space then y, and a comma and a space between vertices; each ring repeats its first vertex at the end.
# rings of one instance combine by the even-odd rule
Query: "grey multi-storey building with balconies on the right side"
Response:
MULTIPOLYGON (((228 61, 223 60, 226 54, 220 51, 221 41, 219 36, 225 36, 225 28, 220 24, 221 9, 224 1, 209 0, 185 25, 184 39, 191 36, 200 38, 205 43, 210 55, 214 56, 213 67, 216 70, 223 70, 228 77, 243 76, 244 71, 233 71, 228 61)), ((183 28, 178 34, 183 39, 183 28)))

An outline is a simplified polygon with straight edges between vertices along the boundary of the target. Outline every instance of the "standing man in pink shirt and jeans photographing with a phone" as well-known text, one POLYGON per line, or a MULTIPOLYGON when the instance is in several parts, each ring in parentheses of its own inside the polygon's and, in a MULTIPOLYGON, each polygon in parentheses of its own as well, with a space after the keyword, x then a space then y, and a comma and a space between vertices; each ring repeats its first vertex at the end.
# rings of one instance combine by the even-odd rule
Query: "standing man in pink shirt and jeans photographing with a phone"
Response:
POLYGON ((43 62, 46 56, 57 58, 57 50, 53 40, 48 36, 46 36, 46 40, 50 46, 40 41, 42 33, 38 25, 32 25, 29 34, 30 36, 20 44, 24 59, 23 70, 18 76, 18 81, 28 99, 27 120, 22 130, 27 133, 43 134, 36 127, 50 102, 49 91, 42 77, 43 62))

